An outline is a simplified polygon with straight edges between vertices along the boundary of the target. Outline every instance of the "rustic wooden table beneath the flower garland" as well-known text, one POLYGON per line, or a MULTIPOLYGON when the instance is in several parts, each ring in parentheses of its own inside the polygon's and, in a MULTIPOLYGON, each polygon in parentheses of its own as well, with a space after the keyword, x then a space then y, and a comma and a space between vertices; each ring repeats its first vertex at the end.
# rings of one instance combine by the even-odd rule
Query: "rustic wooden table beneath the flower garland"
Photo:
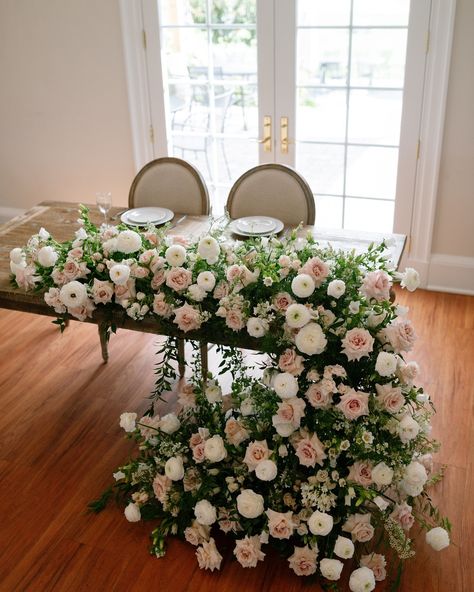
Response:
MULTIPOLYGON (((85 204, 87 205, 87 204, 85 204)), ((102 222, 102 216, 96 206, 90 208, 90 219, 95 224, 102 222)), ((18 310, 34 314, 41 314, 56 317, 54 309, 46 304, 42 293, 24 292, 15 289, 10 285, 10 257, 11 249, 21 247, 26 244, 31 235, 36 234, 41 227, 44 227, 58 241, 71 240, 74 232, 79 228, 77 219, 78 203, 44 201, 31 208, 21 216, 13 218, 6 224, 0 225, 0 308, 18 310)), ((112 208, 109 215, 112 224, 118 224, 119 217, 114 220, 117 213, 123 211, 123 207, 112 208)), ((170 235, 194 236, 197 237, 209 229, 210 218, 208 216, 186 216, 181 221, 182 215, 176 214, 171 221, 170 235), (176 226, 173 227, 173 224, 176 226)), ((405 235, 401 234, 379 234, 372 232, 359 232, 354 230, 327 230, 317 226, 304 226, 301 229, 301 235, 304 236, 310 230, 315 239, 321 244, 331 243, 333 247, 340 249, 356 249, 356 251, 365 251, 370 243, 380 242, 383 238, 390 239, 388 247, 392 261, 396 267, 400 263, 405 246, 405 235)), ((75 320, 71 317, 72 320, 75 320)), ((98 307, 92 318, 85 322, 94 323, 98 326, 100 342, 102 347, 102 357, 107 362, 107 338, 108 327, 113 323, 117 328, 130 329, 133 331, 142 331, 146 333, 155 333, 158 335, 172 335, 188 340, 201 342, 201 352, 203 356, 203 367, 207 367, 207 347, 205 344, 209 341, 219 345, 231 345, 244 349, 261 350, 258 339, 249 335, 236 333, 235 335, 225 335, 219 337, 213 335, 212 340, 206 335, 203 328, 199 331, 183 333, 164 327, 156 318, 145 318, 143 321, 134 321, 125 313, 120 306, 112 311, 104 311, 98 307)), ((182 370, 180 364, 180 373, 182 370)))

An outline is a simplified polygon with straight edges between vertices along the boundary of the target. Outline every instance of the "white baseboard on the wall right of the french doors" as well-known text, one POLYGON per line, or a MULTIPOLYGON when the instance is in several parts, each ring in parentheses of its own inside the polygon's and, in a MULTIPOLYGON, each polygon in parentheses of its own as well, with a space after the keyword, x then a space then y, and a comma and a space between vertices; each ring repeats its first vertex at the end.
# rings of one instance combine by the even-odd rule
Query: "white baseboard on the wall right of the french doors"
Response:
POLYGON ((437 292, 474 295, 474 257, 433 253, 426 287, 437 292))

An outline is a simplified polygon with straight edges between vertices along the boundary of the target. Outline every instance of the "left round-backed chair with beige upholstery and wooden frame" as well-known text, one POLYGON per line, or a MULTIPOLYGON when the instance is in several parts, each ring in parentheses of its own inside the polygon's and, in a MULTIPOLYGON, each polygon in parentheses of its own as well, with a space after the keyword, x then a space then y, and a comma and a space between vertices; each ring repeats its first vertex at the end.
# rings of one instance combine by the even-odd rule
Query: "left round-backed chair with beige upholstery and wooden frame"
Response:
POLYGON ((129 206, 159 206, 180 214, 209 213, 209 196, 199 172, 178 158, 159 158, 135 177, 129 206))

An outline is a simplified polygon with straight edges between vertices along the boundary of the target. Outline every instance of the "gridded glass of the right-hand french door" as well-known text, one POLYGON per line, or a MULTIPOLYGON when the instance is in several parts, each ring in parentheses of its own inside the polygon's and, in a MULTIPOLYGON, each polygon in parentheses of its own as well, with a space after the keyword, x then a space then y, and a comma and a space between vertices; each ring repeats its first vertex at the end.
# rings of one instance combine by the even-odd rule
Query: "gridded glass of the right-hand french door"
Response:
POLYGON ((295 167, 316 224, 392 231, 409 0, 298 0, 295 167))

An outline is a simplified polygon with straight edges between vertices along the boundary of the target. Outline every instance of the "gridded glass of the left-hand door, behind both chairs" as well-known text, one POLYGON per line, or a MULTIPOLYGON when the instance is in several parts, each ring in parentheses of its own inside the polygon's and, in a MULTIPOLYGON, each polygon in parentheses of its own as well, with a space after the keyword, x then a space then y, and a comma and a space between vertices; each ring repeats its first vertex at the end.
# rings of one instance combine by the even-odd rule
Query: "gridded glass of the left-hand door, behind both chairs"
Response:
POLYGON ((161 0, 168 154, 193 163, 221 213, 258 164, 257 0, 161 0))

